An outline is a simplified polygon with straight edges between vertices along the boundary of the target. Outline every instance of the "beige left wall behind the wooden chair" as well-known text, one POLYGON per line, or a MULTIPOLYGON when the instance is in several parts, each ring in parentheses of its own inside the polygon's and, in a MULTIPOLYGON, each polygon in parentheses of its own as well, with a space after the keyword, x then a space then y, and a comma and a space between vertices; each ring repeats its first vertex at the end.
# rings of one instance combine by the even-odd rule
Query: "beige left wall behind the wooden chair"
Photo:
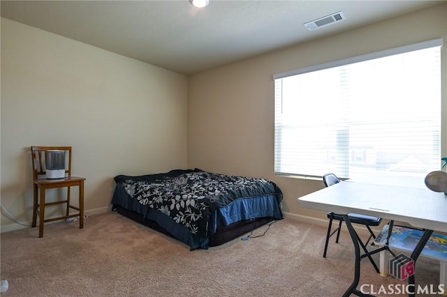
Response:
POLYGON ((1 204, 31 222, 33 145, 73 146, 87 213, 117 174, 186 168, 186 94, 184 75, 1 18, 1 204))

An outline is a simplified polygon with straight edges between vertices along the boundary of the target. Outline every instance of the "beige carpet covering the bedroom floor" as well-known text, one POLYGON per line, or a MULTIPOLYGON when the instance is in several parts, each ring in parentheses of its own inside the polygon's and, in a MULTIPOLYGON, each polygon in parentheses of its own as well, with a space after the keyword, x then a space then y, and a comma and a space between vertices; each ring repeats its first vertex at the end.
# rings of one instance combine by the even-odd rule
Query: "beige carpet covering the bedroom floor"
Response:
MULTIPOLYGON (((9 282, 2 296, 342 296, 353 278, 346 232, 338 244, 331 238, 324 259, 325 228, 291 219, 265 236, 192 252, 117 213, 78 226, 47 224, 43 238, 37 228, 1 234, 1 280, 9 282)), ((416 282, 437 286, 439 262, 421 260, 416 282)), ((406 284, 381 277, 367 259, 361 270, 360 284, 374 289, 406 284)))

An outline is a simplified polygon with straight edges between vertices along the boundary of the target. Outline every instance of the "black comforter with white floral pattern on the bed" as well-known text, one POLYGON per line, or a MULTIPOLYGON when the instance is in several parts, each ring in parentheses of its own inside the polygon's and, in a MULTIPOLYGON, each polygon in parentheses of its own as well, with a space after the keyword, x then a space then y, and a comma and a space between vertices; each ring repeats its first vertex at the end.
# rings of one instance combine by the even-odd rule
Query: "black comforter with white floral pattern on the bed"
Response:
POLYGON ((140 204, 170 216, 191 233, 206 237, 208 219, 219 207, 236 199, 276 195, 282 192, 275 183, 263 178, 228 176, 200 169, 173 170, 166 174, 115 176, 126 192, 140 204))

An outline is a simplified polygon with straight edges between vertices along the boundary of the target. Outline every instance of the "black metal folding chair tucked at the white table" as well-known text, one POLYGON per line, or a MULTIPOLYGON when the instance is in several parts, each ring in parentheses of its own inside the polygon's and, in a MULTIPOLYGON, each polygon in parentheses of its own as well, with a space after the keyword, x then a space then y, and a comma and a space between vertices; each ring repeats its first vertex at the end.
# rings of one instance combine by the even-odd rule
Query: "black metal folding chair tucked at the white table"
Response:
MULTIPOLYGON (((335 174, 332 173, 328 173, 325 174, 323 176, 323 182, 324 185, 326 187, 329 187, 331 185, 335 185, 336 183, 339 183, 340 180, 339 178, 337 178, 337 176, 335 176, 335 174)), ((376 218, 376 217, 372 217, 369 215, 360 215, 357 213, 348 213, 348 217, 349 220, 351 221, 351 223, 353 224, 362 224, 365 227, 367 227, 368 231, 369 231, 369 238, 366 241, 366 243, 362 243, 362 241, 360 240, 360 238, 357 236, 358 241, 360 243, 360 245, 362 245, 363 250, 366 250, 366 246, 368 245, 369 241, 371 240, 371 238, 376 238, 376 236, 374 235, 374 232, 371 229, 371 226, 379 226, 379 224, 381 223, 382 219, 381 218, 376 218)), ((323 258, 326 257, 326 252, 328 251, 328 243, 329 243, 329 238, 330 236, 334 235, 335 232, 337 232, 337 238, 335 239, 335 242, 338 243, 338 239, 340 236, 340 230, 342 229, 342 222, 344 221, 343 216, 339 213, 328 213, 328 218, 329 218, 329 226, 328 226, 328 234, 326 235, 326 243, 324 245, 324 252, 323 252, 323 258), (338 220, 339 224, 337 229, 335 229, 334 231, 332 231, 331 233, 331 229, 332 229, 332 220, 338 220)), ((374 244, 374 243, 373 243, 374 244)), ((376 268, 376 265, 373 263, 374 268, 376 268)), ((378 271, 378 268, 376 268, 376 271, 378 271)))

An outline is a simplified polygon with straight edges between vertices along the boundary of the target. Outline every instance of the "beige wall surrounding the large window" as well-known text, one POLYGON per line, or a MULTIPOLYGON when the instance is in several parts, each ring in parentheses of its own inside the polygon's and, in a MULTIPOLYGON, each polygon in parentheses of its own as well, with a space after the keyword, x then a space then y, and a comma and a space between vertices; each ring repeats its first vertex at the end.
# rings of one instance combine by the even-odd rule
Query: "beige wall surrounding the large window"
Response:
MULTIPOLYGON (((191 75, 189 167, 269 178, 284 192, 286 213, 295 218, 325 219, 324 212, 301 208, 297 200, 323 188, 322 181, 274 176, 272 75, 440 37, 446 44, 447 3, 191 75)), ((447 114, 446 48, 444 45, 442 49, 444 114, 447 114)), ((423 100, 420 98, 421 104, 423 100)), ((447 119, 442 128, 443 155, 447 155, 447 119)))

